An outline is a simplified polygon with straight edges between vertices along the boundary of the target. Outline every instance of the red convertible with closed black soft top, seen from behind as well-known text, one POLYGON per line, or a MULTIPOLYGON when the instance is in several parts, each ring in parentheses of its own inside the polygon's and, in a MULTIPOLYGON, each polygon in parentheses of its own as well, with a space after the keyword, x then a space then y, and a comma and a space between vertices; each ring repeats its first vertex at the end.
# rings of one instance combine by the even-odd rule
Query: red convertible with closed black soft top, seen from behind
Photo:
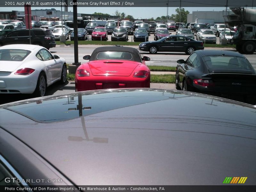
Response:
POLYGON ((137 49, 132 47, 98 47, 89 62, 80 65, 75 74, 76 91, 111 88, 149 88, 150 70, 137 49))

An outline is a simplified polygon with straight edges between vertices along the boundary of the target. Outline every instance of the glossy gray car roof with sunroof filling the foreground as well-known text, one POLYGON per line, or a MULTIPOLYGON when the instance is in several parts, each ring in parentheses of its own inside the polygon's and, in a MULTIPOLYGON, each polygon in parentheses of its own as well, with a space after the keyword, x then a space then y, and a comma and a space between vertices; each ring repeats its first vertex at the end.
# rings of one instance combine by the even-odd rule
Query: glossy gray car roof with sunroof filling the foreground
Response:
MULTIPOLYGON (((40 155, 75 185, 223 185, 226 177, 248 177, 240 186, 255 184, 253 106, 150 88, 19 103, 0 106, 0 127, 6 130, 0 128, 1 155, 10 154, 5 142, 16 137, 31 151, 29 158, 40 155), (68 110, 79 105, 82 116, 68 110)), ((17 166, 20 159, 8 160, 28 169, 17 166)))

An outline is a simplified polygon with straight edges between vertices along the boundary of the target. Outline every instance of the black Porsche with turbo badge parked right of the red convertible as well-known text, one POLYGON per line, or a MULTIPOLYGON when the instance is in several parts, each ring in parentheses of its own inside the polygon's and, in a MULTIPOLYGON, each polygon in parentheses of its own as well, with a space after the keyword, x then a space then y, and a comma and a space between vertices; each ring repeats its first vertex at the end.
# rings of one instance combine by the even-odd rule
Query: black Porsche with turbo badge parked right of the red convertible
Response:
POLYGON ((256 103, 256 72, 240 53, 196 51, 178 60, 176 89, 256 103))

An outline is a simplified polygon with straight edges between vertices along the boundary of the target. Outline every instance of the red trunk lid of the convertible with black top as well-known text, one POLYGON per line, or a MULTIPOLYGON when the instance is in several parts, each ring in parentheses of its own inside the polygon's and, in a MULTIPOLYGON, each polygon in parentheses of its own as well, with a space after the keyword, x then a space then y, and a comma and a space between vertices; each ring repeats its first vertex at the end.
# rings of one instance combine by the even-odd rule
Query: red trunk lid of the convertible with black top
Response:
POLYGON ((94 76, 130 76, 139 63, 128 60, 96 60, 85 65, 89 65, 94 76))

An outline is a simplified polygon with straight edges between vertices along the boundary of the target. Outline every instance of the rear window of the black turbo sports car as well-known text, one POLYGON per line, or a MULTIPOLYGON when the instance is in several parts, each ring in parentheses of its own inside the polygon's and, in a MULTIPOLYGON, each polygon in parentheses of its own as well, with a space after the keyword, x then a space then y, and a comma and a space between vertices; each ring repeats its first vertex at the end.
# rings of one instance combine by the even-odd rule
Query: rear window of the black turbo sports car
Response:
POLYGON ((244 69, 253 71, 251 64, 242 57, 211 55, 204 56, 202 59, 211 69, 244 69))

